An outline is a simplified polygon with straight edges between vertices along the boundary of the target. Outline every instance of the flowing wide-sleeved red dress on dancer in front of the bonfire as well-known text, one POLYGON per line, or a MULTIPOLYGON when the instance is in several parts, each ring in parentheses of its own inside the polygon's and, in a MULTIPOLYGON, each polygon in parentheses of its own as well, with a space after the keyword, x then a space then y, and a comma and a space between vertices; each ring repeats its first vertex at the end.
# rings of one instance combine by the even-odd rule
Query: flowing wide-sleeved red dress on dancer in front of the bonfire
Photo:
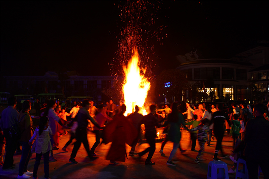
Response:
POLYGON ((104 129, 105 142, 112 142, 106 160, 125 162, 126 146, 132 145, 137 130, 124 115, 117 114, 104 129))

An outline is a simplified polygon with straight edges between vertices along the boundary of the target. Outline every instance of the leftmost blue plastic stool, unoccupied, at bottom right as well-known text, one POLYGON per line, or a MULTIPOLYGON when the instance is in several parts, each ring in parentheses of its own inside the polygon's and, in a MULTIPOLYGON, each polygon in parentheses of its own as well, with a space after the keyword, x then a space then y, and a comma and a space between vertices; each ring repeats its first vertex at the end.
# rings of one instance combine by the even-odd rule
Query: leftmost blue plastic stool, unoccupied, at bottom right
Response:
POLYGON ((229 179, 228 167, 225 162, 211 161, 208 163, 207 178, 229 179))

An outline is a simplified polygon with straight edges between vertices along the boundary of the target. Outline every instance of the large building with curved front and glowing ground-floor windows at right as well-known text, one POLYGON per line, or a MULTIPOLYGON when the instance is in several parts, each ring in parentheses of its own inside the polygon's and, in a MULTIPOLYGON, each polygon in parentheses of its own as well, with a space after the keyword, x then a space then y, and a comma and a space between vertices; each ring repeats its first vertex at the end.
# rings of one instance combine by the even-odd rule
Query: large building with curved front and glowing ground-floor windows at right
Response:
MULTIPOLYGON (((267 101, 268 54, 268 47, 261 46, 239 53, 231 59, 199 59, 196 51, 192 51, 184 56, 177 56, 181 64, 176 69, 185 72, 191 84, 207 82, 205 90, 209 95, 211 89, 213 100, 228 95, 231 100, 253 103, 255 99, 250 88, 254 83, 258 91, 265 92, 262 100, 267 101)), ((196 90, 202 92, 202 87, 200 85, 196 90)), ((188 100, 187 95, 185 98, 188 100)))

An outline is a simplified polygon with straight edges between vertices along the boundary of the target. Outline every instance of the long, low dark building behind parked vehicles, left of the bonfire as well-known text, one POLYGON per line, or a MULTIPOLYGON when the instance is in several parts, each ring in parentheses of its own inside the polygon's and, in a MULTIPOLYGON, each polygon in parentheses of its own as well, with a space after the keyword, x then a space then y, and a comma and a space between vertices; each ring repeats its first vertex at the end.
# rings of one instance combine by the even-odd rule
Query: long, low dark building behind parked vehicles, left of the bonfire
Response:
MULTIPOLYGON (((76 72, 57 74, 48 71, 44 76, 4 76, 1 90, 16 94, 63 93, 69 96, 91 96, 95 101, 107 100, 102 89, 113 84, 114 76, 79 76, 76 72)), ((119 76, 118 78, 121 78, 119 76)))

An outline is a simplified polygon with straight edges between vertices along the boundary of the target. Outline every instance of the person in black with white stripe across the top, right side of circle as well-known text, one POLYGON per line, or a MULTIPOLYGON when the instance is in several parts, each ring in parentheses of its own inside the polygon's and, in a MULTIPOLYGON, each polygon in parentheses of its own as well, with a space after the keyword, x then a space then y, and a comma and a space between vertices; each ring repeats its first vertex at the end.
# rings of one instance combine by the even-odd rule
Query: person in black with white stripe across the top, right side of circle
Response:
POLYGON ((214 123, 214 134, 217 139, 217 144, 216 144, 213 160, 220 161, 221 159, 218 158, 218 153, 220 150, 222 152, 223 157, 228 156, 224 154, 221 148, 221 142, 224 136, 223 123, 225 122, 225 120, 228 122, 229 126, 231 126, 231 123, 230 123, 230 120, 227 120, 229 119, 229 117, 224 112, 222 112, 222 109, 223 109, 222 104, 217 104, 216 108, 218 111, 214 112, 213 119, 212 119, 214 123))

